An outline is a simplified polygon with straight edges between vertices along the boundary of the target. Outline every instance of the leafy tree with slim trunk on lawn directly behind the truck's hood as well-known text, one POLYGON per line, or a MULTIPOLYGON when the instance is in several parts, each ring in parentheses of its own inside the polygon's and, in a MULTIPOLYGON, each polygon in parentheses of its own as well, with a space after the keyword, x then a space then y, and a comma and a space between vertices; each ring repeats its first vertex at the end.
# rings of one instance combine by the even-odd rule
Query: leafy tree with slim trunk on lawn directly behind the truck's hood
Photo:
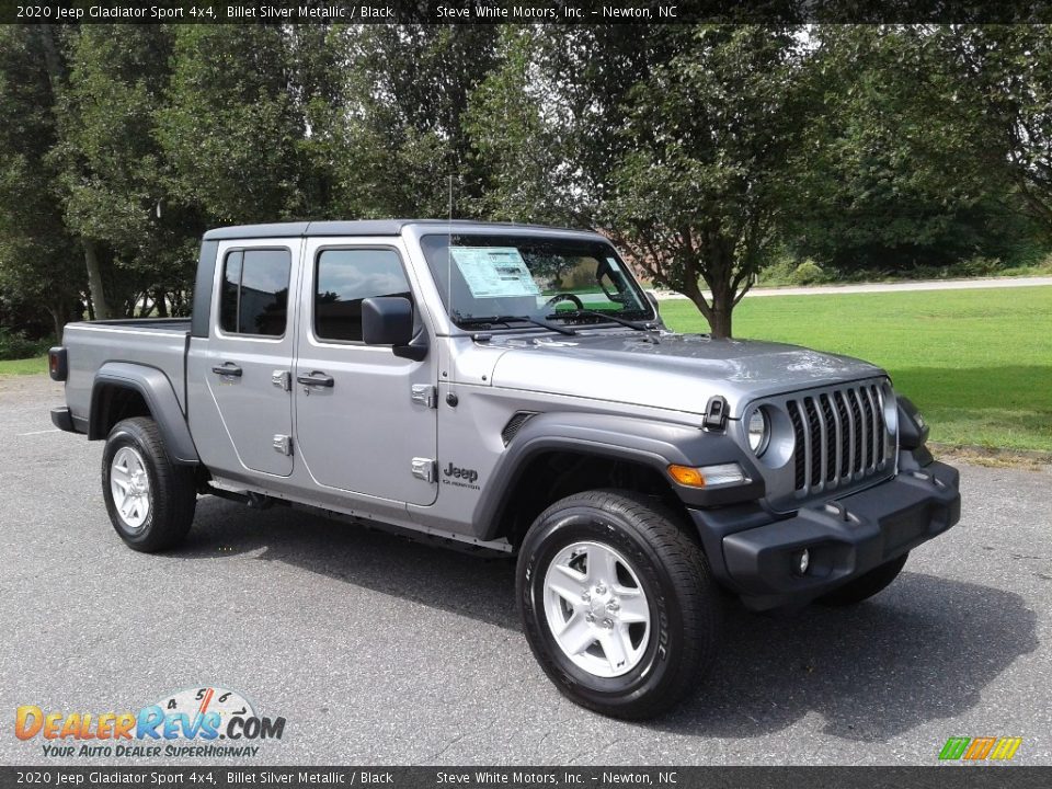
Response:
POLYGON ((469 116, 494 181, 487 211, 609 235, 730 336, 799 139, 792 32, 608 25, 502 42, 469 116))

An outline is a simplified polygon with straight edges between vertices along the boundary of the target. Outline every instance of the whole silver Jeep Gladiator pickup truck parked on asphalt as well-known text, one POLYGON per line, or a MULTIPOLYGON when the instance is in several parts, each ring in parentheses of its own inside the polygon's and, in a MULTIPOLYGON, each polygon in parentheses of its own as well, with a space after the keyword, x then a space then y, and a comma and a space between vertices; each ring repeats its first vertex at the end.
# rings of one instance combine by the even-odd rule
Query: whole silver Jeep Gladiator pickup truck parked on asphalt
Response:
POLYGON ((670 332, 592 232, 221 228, 191 319, 72 323, 49 363, 129 547, 172 548, 211 494, 517 557, 540 665, 622 718, 689 695, 724 590, 858 603, 960 517, 882 369, 670 332))

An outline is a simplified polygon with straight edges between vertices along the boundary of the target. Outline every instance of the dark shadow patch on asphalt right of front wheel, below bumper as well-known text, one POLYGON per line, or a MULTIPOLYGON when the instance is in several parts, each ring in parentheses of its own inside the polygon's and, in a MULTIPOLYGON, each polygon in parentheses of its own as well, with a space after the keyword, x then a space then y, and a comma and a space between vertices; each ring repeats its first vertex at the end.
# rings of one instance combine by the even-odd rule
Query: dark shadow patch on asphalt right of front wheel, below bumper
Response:
POLYGON ((826 734, 883 742, 975 707, 987 685, 1038 648, 1037 616, 1017 594, 908 567, 849 608, 773 618, 732 607, 714 671, 656 728, 747 737, 814 711, 826 734))

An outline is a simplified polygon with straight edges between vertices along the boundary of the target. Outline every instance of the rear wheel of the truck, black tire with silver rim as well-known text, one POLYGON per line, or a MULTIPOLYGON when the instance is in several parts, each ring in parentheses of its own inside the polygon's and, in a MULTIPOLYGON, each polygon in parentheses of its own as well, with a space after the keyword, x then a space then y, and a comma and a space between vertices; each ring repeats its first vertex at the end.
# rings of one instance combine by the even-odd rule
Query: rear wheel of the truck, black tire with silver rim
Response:
POLYGON ((102 454, 102 495, 117 535, 145 553, 179 545, 197 508, 193 467, 172 464, 157 423, 144 416, 110 431, 102 454))

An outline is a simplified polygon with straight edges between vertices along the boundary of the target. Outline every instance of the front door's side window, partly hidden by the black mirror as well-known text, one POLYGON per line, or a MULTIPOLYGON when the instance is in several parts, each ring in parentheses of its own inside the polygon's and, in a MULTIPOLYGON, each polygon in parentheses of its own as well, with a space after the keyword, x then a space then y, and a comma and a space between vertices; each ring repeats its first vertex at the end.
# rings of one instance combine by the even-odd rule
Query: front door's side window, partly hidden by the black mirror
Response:
POLYGON ((361 341, 362 300, 374 296, 412 298, 395 250, 324 250, 315 277, 315 336, 361 341))

